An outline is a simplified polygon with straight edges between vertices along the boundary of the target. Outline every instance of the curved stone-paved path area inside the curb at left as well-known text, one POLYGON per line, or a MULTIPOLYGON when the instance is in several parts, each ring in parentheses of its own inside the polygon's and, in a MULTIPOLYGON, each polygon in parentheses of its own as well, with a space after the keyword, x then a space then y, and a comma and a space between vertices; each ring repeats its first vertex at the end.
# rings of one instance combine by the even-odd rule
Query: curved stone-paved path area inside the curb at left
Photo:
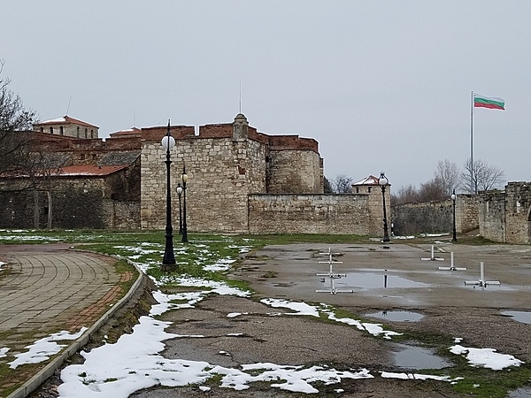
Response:
POLYGON ((0 333, 79 331, 116 301, 115 260, 52 246, 0 248, 0 260, 7 262, 0 278, 0 333))

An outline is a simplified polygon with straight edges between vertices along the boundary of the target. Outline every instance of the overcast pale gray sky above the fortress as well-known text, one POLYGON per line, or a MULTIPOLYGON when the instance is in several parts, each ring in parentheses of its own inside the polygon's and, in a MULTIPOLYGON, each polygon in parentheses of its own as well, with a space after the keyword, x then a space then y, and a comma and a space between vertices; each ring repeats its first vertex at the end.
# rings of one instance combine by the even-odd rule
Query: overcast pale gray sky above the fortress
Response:
POLYGON ((531 180, 531 2, 20 1, 0 6, 0 59, 41 120, 100 127, 232 122, 319 142, 325 175, 393 188, 470 157, 531 180), (72 98, 72 100, 70 100, 72 98))

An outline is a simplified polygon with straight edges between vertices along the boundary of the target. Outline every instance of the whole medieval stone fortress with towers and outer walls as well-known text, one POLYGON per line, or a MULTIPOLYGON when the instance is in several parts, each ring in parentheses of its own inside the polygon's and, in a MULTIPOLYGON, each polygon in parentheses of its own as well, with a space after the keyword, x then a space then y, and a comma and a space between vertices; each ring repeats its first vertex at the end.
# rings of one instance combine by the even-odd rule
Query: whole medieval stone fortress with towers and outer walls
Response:
MULTIPOLYGON (((35 150, 50 155, 38 190, 3 192, 0 227, 163 229, 168 127, 131 128, 99 138, 95 125, 69 116, 34 125, 35 150)), ((324 193, 319 144, 298 135, 269 135, 243 114, 232 123, 170 126, 174 222, 175 188, 185 170, 189 231, 208 233, 354 233, 381 236, 382 190, 373 175, 350 194, 324 193)), ((365 173, 366 175, 366 173, 365 173)), ((3 178, 19 184, 24 176, 3 178)), ((531 189, 511 182, 504 191, 458 195, 458 232, 479 228, 487 239, 531 241, 531 189)), ((410 203, 391 210, 396 233, 451 230, 451 202, 410 203)))

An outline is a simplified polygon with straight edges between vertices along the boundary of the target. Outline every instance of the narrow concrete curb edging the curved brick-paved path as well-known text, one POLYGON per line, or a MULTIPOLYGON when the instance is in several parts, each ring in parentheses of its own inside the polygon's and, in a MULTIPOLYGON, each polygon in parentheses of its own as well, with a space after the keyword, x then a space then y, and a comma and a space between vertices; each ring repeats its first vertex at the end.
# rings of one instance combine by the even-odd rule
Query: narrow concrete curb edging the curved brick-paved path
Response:
POLYGON ((65 348, 65 350, 57 357, 53 358, 50 364, 47 364, 41 371, 35 374, 34 377, 27 380, 26 383, 12 392, 12 394, 9 394, 7 398, 26 398, 27 395, 33 393, 42 385, 42 383, 44 383, 47 379, 50 379, 55 371, 57 371, 59 367, 65 363, 66 359, 80 351, 81 348, 85 347, 90 341, 92 335, 95 334, 103 325, 105 325, 105 323, 131 299, 131 296, 134 295, 138 288, 142 286, 144 280, 148 278, 148 276, 145 275, 132 261, 127 260, 127 263, 133 265, 136 271, 138 271, 138 278, 136 279, 135 284, 127 292, 127 295, 124 295, 119 302, 114 304, 112 309, 105 312, 102 318, 99 318, 94 325, 90 326, 89 330, 83 333, 79 339, 65 348))

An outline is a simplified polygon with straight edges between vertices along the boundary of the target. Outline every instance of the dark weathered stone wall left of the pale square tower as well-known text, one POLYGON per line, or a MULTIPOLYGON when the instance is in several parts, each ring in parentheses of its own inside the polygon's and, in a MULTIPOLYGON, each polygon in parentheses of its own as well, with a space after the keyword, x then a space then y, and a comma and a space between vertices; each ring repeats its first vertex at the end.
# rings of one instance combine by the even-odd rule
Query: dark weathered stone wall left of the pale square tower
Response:
MULTIPOLYGON (((50 190, 52 228, 140 228, 140 187, 130 183, 135 181, 130 172, 100 178, 59 177, 42 182, 39 190, 1 192, 0 227, 46 228, 50 190)), ((17 179, 3 182, 16 184, 17 179)))

